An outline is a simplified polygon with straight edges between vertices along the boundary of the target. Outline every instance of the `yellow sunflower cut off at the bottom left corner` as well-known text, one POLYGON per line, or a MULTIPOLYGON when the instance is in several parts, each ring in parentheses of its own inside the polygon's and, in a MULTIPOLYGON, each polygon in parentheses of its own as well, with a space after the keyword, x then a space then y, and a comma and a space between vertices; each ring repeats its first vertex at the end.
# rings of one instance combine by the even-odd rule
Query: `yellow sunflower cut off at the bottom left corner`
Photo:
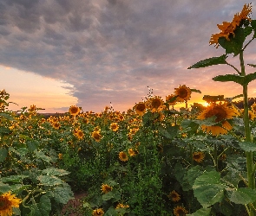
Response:
POLYGON ((11 195, 10 192, 0 195, 0 215, 12 215, 12 208, 19 207, 21 199, 16 198, 16 195, 11 195))

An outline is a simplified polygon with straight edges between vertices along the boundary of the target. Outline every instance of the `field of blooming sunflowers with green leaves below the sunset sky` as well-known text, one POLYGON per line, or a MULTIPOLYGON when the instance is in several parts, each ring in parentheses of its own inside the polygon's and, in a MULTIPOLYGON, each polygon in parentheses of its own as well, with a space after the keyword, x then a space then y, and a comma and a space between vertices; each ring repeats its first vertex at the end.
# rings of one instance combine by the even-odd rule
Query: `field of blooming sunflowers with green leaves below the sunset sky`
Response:
POLYGON ((256 38, 251 10, 245 4, 212 35, 225 54, 188 67, 232 67, 236 74, 213 80, 242 86, 233 98, 205 95, 207 106, 189 105, 201 92, 181 85, 166 98, 150 90, 124 112, 71 105, 46 116, 36 105, 10 111, 2 90, 0 215, 256 215, 256 100, 247 95, 256 73, 246 74, 243 56, 256 38), (240 68, 226 61, 230 54, 240 68))

